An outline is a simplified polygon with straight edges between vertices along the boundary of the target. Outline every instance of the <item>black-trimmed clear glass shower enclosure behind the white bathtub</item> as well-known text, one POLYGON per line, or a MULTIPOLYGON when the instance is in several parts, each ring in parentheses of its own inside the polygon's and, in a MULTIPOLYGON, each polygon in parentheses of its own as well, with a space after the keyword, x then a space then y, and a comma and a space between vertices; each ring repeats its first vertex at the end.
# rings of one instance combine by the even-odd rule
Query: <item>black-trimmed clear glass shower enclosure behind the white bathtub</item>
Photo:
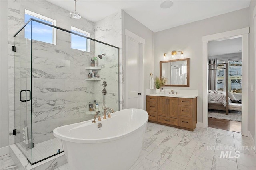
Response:
POLYGON ((63 152, 53 129, 92 119, 89 103, 96 100, 101 113, 103 105, 119 110, 118 47, 31 18, 14 35, 12 48, 15 144, 30 164, 63 152), (55 33, 55 44, 35 39, 44 35, 40 25, 55 33), (72 49, 74 36, 89 50, 72 49), (98 66, 91 66, 94 57, 98 66))

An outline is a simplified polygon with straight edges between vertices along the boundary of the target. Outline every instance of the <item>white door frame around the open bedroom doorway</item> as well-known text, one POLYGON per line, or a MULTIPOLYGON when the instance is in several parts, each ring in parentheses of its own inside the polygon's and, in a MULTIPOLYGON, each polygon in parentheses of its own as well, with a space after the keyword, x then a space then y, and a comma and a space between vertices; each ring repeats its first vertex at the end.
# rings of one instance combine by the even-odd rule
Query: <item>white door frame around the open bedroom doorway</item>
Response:
POLYGON ((248 136, 248 33, 249 27, 202 37, 203 127, 208 127, 208 41, 242 37, 242 135, 248 136))

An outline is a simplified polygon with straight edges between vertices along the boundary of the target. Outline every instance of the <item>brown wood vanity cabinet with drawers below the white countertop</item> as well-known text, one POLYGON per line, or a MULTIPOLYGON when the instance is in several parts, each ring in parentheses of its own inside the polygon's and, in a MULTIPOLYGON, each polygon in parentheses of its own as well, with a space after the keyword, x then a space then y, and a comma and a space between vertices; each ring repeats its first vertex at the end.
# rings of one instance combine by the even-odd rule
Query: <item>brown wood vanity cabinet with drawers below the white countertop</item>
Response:
POLYGON ((147 96, 150 122, 193 131, 196 128, 197 98, 147 96))

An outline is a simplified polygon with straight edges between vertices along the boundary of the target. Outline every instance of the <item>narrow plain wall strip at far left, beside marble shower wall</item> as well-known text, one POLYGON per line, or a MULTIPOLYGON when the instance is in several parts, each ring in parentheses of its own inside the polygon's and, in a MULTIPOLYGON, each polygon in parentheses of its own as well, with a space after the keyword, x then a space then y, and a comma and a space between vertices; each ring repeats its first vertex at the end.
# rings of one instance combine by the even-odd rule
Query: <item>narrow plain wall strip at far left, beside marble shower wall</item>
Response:
MULTIPOLYGON (((9 145, 8 115, 8 0, 0 1, 0 148, 9 145)), ((0 155, 2 156, 1 149, 0 155)))

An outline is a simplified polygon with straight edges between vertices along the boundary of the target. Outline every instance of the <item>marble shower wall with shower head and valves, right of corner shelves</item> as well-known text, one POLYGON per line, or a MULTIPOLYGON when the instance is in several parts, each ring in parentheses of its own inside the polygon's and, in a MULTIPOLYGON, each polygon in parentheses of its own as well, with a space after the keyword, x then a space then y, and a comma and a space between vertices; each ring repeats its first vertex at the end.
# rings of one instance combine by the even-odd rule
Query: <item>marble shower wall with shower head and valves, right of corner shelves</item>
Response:
MULTIPOLYGON (((119 58, 120 62, 118 63, 118 49, 114 47, 107 47, 99 43, 95 43, 95 53, 96 56, 101 54, 106 54, 103 59, 99 59, 99 66, 102 67, 99 70, 101 81, 96 82, 95 84, 95 98, 97 101, 100 101, 100 109, 102 109, 103 104, 103 94, 101 93, 102 82, 107 81, 108 86, 106 87, 107 94, 105 96, 105 105, 106 107, 111 107, 114 111, 119 110, 119 105, 122 106, 122 97, 120 95, 119 101, 119 88, 121 88, 122 83, 122 66, 121 66, 121 47, 122 47, 122 16, 121 11, 116 12, 98 22, 95 23, 95 39, 119 47, 119 58), (118 74, 118 70, 120 73, 118 74), (118 78, 120 80, 118 82, 118 78), (119 102, 118 102, 119 101, 119 102)), ((120 89, 121 91, 121 89, 120 89)), ((122 107, 120 107, 122 109, 122 107)))

